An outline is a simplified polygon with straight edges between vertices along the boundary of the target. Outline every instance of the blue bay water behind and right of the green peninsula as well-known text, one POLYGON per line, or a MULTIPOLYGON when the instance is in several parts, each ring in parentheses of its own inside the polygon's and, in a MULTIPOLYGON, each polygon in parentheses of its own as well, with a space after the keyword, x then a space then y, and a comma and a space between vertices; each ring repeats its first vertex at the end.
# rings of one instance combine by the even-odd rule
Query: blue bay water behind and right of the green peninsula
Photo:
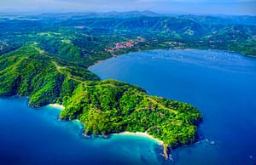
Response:
POLYGON ((201 110, 200 141, 173 151, 168 164, 256 164, 256 59, 223 51, 155 50, 105 60, 90 70, 201 110))

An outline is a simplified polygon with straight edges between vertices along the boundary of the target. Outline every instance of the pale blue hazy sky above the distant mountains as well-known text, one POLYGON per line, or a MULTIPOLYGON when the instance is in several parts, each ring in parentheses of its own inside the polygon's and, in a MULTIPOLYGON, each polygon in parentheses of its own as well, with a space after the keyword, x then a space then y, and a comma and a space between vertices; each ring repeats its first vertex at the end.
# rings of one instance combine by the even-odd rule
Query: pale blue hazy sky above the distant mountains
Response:
POLYGON ((160 14, 256 15, 256 0, 0 0, 0 13, 131 10, 160 14))

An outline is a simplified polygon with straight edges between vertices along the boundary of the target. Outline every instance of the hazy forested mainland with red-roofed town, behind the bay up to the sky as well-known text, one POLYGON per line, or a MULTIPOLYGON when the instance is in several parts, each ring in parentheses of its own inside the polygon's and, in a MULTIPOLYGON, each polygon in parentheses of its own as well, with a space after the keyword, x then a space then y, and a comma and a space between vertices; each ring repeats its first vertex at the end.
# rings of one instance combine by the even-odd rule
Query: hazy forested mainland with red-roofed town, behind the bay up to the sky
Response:
POLYGON ((37 43, 47 54, 88 67, 154 48, 235 51, 255 56, 253 16, 41 14, 0 17, 0 54, 37 43))

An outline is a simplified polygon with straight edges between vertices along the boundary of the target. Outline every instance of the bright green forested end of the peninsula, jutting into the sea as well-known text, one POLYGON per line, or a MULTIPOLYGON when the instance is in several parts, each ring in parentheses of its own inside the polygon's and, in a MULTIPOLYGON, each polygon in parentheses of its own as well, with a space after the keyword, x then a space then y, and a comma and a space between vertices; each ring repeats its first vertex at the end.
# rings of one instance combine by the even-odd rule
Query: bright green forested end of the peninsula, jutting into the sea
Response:
POLYGON ((85 134, 147 132, 168 146, 195 141, 200 111, 185 103, 149 96, 115 80, 79 84, 65 102, 63 119, 79 119, 85 134))

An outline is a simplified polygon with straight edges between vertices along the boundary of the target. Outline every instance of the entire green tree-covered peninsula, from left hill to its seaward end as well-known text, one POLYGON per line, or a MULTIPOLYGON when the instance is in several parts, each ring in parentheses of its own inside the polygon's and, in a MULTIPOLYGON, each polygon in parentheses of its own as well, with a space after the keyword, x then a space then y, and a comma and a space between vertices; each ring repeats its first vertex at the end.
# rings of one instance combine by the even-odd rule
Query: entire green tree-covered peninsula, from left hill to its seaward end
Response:
POLYGON ((34 44, 0 56, 0 95, 15 94, 29 96, 32 106, 64 105, 60 117, 79 119, 85 134, 147 132, 170 147, 194 142, 202 120, 192 105, 150 96, 128 83, 100 81, 34 44))

